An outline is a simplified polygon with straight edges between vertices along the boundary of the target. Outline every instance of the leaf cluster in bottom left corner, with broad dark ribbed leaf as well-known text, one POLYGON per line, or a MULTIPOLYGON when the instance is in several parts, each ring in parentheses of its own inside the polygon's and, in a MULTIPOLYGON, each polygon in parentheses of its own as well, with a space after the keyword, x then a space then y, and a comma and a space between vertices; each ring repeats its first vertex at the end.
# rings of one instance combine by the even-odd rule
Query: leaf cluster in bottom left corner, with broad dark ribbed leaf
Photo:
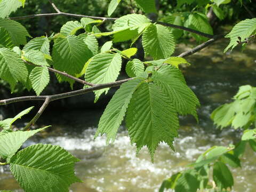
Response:
POLYGON ((79 159, 53 145, 37 144, 20 150, 27 139, 49 127, 13 131, 12 124, 31 109, 33 107, 21 111, 13 118, 0 121, 0 165, 10 165, 14 178, 25 191, 68 191, 72 183, 81 182, 74 173, 74 164, 79 159))

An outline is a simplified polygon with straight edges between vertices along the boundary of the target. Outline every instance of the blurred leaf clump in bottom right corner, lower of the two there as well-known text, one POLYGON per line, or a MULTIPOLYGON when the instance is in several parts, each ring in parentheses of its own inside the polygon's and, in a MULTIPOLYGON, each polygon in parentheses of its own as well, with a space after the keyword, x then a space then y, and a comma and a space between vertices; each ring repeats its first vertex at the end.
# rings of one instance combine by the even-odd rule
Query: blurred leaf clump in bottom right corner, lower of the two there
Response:
POLYGON ((234 186, 234 178, 229 167, 241 167, 240 158, 245 153, 246 144, 256 152, 256 129, 246 130, 236 146, 213 146, 200 155, 191 167, 175 173, 164 180, 159 192, 173 189, 175 192, 204 190, 230 191, 234 186))

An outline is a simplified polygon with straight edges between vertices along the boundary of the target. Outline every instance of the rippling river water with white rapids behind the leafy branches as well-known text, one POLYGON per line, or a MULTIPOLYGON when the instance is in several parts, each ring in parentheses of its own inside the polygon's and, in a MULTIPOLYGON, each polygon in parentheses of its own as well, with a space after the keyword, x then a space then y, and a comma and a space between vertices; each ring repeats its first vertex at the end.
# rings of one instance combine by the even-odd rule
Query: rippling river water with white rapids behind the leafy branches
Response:
MULTIPOLYGON (((75 169, 84 182, 75 183, 70 191, 158 191, 164 179, 186 169, 186 165, 195 161, 206 149, 214 145, 228 146, 241 137, 241 130, 218 130, 213 125, 210 114, 219 105, 231 101, 230 98, 239 86, 255 86, 256 46, 252 44, 244 52, 235 50, 223 54, 226 43, 215 43, 188 58, 191 66, 183 68, 183 73, 188 85, 201 101, 201 108, 198 109, 199 123, 190 116, 180 117, 181 126, 179 138, 175 139, 175 151, 162 143, 157 148, 154 164, 145 148, 136 156, 135 147, 130 145, 124 126, 119 129, 115 143, 109 146, 106 146, 105 137, 94 140, 102 110, 51 114, 52 131, 31 138, 24 147, 38 142, 52 143, 80 158, 81 162, 76 164, 75 169)), ((187 50, 189 46, 191 45, 181 45, 178 50, 187 50)), ((45 122, 48 120, 45 119, 45 122)), ((233 191, 256 190, 256 153, 249 147, 242 158, 242 167, 231 171, 235 177, 233 191)), ((3 189, 22 191, 7 166, 0 167, 0 190, 3 189)))

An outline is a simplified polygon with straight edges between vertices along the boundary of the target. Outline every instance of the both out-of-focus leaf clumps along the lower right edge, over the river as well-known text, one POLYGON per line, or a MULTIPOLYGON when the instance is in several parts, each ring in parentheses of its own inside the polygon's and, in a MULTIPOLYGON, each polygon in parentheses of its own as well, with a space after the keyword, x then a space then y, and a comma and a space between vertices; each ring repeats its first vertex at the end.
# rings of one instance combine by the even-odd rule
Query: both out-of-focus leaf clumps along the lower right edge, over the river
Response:
POLYGON ((214 123, 221 128, 231 124, 235 129, 245 129, 241 141, 235 146, 214 146, 206 150, 195 163, 188 165, 192 169, 173 174, 165 180, 159 192, 165 189, 174 189, 175 192, 196 192, 198 189, 229 191, 234 186, 229 167, 241 167, 239 158, 245 153, 247 143, 256 152, 256 129, 249 129, 250 125, 255 127, 255 90, 250 85, 241 86, 233 103, 220 106, 212 113, 214 123))

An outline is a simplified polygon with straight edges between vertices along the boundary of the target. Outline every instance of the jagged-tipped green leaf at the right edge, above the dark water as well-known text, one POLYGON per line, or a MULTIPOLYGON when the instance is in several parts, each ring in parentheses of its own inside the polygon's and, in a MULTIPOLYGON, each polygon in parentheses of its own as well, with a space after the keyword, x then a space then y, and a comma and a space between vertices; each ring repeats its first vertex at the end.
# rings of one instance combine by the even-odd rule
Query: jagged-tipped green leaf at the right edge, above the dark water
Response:
POLYGON ((226 38, 230 38, 230 43, 224 50, 224 52, 228 51, 231 48, 231 51, 235 46, 238 45, 238 37, 244 41, 244 39, 248 38, 250 35, 256 33, 256 18, 253 19, 245 19, 239 23, 237 23, 233 29, 230 31, 226 38))

